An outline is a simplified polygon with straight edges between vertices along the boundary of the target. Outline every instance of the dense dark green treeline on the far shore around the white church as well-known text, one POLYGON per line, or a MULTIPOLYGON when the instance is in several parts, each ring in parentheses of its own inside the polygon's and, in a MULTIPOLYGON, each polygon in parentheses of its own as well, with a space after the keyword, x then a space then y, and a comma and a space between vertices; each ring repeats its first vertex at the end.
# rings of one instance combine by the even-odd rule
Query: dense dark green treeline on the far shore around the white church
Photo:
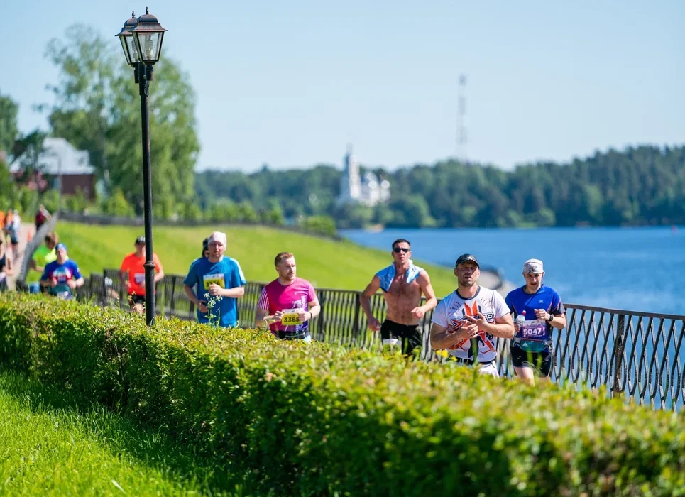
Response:
POLYGON ((372 170, 391 184, 390 201, 375 207, 336 205, 342 171, 334 165, 207 170, 196 173, 195 189, 204 208, 222 198, 256 209, 278 205, 287 218, 324 215, 340 228, 685 224, 682 146, 610 150, 513 171, 455 160, 372 170))

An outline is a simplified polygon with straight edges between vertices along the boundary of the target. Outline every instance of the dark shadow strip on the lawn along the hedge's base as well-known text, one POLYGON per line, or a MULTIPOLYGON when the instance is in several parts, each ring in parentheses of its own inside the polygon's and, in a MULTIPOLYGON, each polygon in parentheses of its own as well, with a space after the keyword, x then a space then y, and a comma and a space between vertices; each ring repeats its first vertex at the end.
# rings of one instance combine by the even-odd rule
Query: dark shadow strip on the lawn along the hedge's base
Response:
POLYGON ((44 385, 21 373, 0 374, 0 388, 21 399, 36 413, 77 415, 84 432, 112 454, 128 454, 141 464, 184 481, 194 481, 207 495, 268 495, 251 474, 231 474, 225 466, 195 453, 160 430, 138 424, 103 405, 84 400, 54 386, 44 385))

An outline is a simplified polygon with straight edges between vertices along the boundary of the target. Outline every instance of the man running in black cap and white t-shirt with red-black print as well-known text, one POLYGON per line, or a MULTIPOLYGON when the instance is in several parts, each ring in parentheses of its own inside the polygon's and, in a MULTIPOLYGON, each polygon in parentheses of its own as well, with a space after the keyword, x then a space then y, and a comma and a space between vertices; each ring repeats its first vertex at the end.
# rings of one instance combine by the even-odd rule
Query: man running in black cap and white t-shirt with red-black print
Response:
POLYGON ((458 363, 475 365, 479 373, 499 376, 497 339, 514 336, 509 307, 495 290, 478 285, 481 266, 476 256, 464 253, 454 266, 459 285, 433 312, 431 346, 447 349, 458 363))

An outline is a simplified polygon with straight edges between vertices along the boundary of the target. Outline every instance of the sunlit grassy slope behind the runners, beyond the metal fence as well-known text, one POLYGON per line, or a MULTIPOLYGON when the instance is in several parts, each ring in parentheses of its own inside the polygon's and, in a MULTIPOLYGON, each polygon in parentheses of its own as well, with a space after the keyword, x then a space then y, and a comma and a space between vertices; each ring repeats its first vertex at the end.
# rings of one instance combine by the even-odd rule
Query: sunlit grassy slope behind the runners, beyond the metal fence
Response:
MULTIPOLYGON (((214 230, 226 231, 226 254, 236 258, 248 281, 270 281, 276 277, 273 258, 288 251, 297 258, 297 274, 316 288, 363 290, 373 274, 392 262, 387 252, 367 249, 351 241, 334 241, 265 226, 160 226, 153 230, 153 249, 165 273, 185 275, 190 263, 199 257, 202 240, 214 230)), ((102 273, 103 268, 119 268, 133 241, 143 234, 141 227, 94 226, 59 222, 57 233, 67 244, 70 258, 81 271, 102 273)), ((423 263, 438 297, 451 293, 456 278, 451 269, 423 263)))

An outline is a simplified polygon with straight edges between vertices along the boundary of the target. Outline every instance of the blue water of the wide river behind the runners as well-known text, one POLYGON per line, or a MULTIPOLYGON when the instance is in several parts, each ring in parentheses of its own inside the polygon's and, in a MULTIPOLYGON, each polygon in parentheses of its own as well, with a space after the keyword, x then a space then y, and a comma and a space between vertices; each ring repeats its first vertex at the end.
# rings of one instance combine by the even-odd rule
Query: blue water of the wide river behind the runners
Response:
MULTIPOLYGON (((344 230, 358 244, 388 251, 405 238, 413 256, 454 267, 461 253, 524 283, 523 262, 544 262, 544 283, 564 302, 685 315, 685 227, 344 230)), ((456 284, 456 280, 455 280, 456 284)), ((439 295, 443 297, 444 295, 439 295)))

